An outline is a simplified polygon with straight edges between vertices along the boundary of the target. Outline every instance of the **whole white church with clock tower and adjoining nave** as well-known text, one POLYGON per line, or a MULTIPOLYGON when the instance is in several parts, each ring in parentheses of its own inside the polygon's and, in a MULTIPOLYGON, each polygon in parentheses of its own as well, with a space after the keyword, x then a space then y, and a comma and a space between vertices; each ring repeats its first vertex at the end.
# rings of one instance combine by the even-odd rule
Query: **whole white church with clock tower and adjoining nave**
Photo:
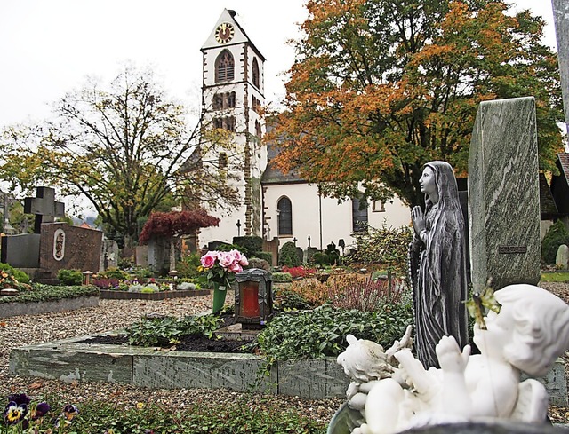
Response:
MULTIPOLYGON (((221 216, 218 227, 199 233, 199 245, 210 241, 232 242, 237 235, 278 239, 280 246, 293 241, 301 249, 325 249, 333 242, 346 249, 354 233, 365 225, 409 225, 410 210, 399 199, 373 201, 360 209, 359 201, 326 198, 318 185, 294 173, 284 174, 271 162, 278 144, 264 143, 266 131, 260 107, 265 104, 265 57, 236 20, 224 10, 202 47, 204 122, 231 131, 243 159, 244 170, 236 187, 242 205, 221 216)), ((219 158, 223 158, 220 153, 219 158)))

